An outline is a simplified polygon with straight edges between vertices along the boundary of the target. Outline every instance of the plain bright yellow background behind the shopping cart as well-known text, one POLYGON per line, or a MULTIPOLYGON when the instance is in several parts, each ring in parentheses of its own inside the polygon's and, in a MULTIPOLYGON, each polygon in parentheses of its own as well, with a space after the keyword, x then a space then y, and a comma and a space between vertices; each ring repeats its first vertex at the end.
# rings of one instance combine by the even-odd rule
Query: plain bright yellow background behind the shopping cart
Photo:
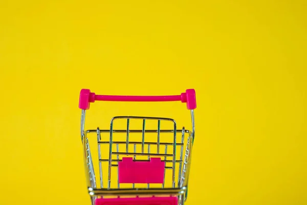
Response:
MULTIPOLYGON (((0 7, 0 204, 89 204, 81 88, 196 90, 187 204, 307 203, 305 1, 0 7)), ((180 103, 105 105, 91 108, 87 128, 125 114, 173 117, 190 128, 180 103)))

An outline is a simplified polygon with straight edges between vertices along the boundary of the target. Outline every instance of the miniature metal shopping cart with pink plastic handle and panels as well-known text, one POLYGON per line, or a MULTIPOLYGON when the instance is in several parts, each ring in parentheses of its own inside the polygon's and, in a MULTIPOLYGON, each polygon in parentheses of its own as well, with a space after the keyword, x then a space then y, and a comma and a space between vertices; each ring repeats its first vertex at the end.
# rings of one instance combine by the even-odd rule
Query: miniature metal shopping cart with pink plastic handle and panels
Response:
POLYGON ((184 204, 195 133, 193 89, 170 96, 96 95, 82 89, 79 108, 86 183, 93 205, 184 204), (190 110, 191 130, 178 129, 171 118, 139 116, 116 116, 109 129, 85 130, 85 111, 97 100, 181 101, 190 110), (155 129, 147 128, 148 122, 155 129), (124 128, 118 129, 117 124, 124 128), (164 124, 170 128, 164 129, 164 124), (97 149, 93 150, 94 145, 97 149), (97 162, 93 163, 94 159, 97 162), (95 173, 99 173, 99 182, 95 173))

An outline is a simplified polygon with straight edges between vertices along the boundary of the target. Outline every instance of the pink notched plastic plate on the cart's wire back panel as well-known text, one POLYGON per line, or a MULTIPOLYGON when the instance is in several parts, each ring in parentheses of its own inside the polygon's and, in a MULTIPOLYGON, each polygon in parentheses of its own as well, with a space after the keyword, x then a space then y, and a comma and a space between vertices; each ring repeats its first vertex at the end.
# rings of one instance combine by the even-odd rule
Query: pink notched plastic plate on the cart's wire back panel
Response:
POLYGON ((133 161, 132 157, 123 157, 118 163, 120 183, 163 183, 165 162, 160 158, 150 161, 133 161))

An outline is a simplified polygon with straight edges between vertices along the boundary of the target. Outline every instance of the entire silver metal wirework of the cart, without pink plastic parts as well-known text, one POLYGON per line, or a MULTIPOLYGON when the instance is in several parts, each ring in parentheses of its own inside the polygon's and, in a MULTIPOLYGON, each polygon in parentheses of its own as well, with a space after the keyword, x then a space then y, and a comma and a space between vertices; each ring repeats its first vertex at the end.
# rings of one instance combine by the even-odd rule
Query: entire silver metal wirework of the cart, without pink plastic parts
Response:
MULTIPOLYGON (((191 151, 194 140, 194 132, 195 132, 195 120, 194 120, 194 112, 191 110, 191 120, 192 120, 192 131, 183 129, 177 129, 176 121, 171 118, 158 118, 158 117, 138 117, 138 116, 117 116, 111 119, 110 129, 99 129, 96 130, 84 130, 85 125, 85 110, 81 112, 81 139, 84 149, 84 169, 86 173, 86 183, 88 187, 89 194, 91 196, 92 204, 95 204, 95 199, 103 196, 125 196, 125 195, 177 195, 178 196, 178 204, 183 205, 184 201, 187 199, 187 187, 188 187, 188 176, 190 170, 191 163, 191 151), (114 123, 119 120, 126 120, 126 129, 113 129, 114 123), (130 122, 134 119, 142 120, 142 129, 129 129, 130 122), (157 120, 157 129, 145 129, 146 120, 157 120), (173 129, 161 129, 161 123, 163 121, 170 121, 173 124, 173 129), (96 151, 98 153, 97 163, 99 166, 99 188, 96 186, 96 177, 94 172, 94 164, 93 158, 90 149, 89 136, 90 133, 97 134, 97 148, 96 151), (106 140, 102 133, 109 133, 109 139, 106 140), (118 138, 114 138, 115 133, 125 133, 125 137, 123 140, 118 140, 118 138), (141 140, 130 140, 130 133, 141 133, 141 140), (156 140, 148 141, 146 138, 147 133, 156 133, 156 140), (172 141, 163 141, 164 134, 172 135, 172 141), (181 134, 180 141, 177 142, 177 133, 181 134), (163 134, 163 135, 161 135, 163 134), (185 143, 185 135, 188 135, 186 143, 185 143), (116 139, 116 140, 113 140, 116 139), (185 153, 183 152, 183 146, 186 144, 185 153), (108 149, 102 149, 101 146, 107 146, 108 149), (113 151, 113 145, 116 150, 113 151), (120 148, 120 145, 124 146, 124 148, 120 148), (133 149, 129 148, 129 145, 133 146, 133 149), (145 152, 145 145, 147 148, 147 152, 145 152), (139 151, 138 151, 138 146, 139 151), (162 148, 161 148, 162 146, 162 148), (157 150, 152 147, 156 147, 157 150), (163 149, 164 147, 164 149, 163 149), (168 153, 168 147, 171 149, 171 153, 168 153), (177 151, 177 148, 179 150, 177 151), (133 151, 132 151, 133 150, 133 151), (103 157, 103 153, 105 153, 107 157, 103 157), (178 152, 178 153, 177 153, 178 152), (177 155, 178 154, 178 155, 177 155), (118 181, 118 163, 121 161, 120 156, 131 156, 134 160, 137 161, 148 161, 151 156, 161 157, 161 161, 166 162, 165 170, 172 170, 171 179, 164 177, 164 182, 162 183, 161 188, 150 188, 150 185, 147 184, 147 188, 138 188, 135 184, 131 184, 131 188, 120 188, 120 184, 118 181), (138 158, 146 156, 146 159, 138 158), (114 157, 114 158, 113 158, 114 157), (106 170, 103 170, 103 163, 108 163, 107 169, 107 186, 103 187, 103 174, 106 174, 106 170), (169 163, 167 165, 167 163, 169 163), (171 163, 171 166, 170 166, 171 163), (178 165, 176 170, 176 165, 178 165), (113 168, 114 167, 114 168, 113 168), (117 180, 114 180, 112 177, 112 172, 117 172, 117 180), (178 174, 178 178, 176 178, 176 173, 178 174), (170 180, 171 187, 166 187, 166 181, 170 180), (177 180, 177 182, 176 182, 177 180), (116 188, 115 188, 116 187, 116 188)), ((131 138, 132 139, 132 138, 131 138)), ((92 142, 91 142, 92 143, 92 142)), ((95 156, 95 155, 94 155, 95 156)), ((115 174, 115 173, 114 173, 115 174)), ((165 175, 165 173, 164 173, 165 175)))

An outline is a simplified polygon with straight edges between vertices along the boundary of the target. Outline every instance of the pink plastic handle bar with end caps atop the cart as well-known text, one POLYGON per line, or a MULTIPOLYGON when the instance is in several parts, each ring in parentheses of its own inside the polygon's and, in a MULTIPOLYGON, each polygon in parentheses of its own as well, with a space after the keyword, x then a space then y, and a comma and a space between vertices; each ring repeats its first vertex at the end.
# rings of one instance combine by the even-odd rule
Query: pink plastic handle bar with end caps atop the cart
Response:
POLYGON ((157 102, 157 101, 181 101, 187 104, 187 109, 196 108, 196 95, 194 89, 188 89, 181 95, 165 96, 127 96, 127 95, 96 95, 89 89, 82 89, 80 92, 79 108, 89 110, 90 103, 99 101, 133 101, 133 102, 157 102))

